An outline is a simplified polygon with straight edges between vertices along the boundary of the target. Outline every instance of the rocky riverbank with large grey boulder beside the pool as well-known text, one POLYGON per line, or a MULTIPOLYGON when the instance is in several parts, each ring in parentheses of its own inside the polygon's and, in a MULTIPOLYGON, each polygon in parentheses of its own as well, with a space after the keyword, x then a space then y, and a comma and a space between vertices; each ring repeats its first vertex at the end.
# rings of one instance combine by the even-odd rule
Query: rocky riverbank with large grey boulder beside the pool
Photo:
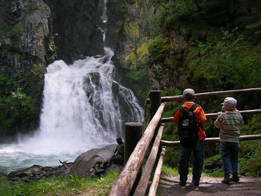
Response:
POLYGON ((74 162, 66 163, 61 162, 63 165, 56 167, 33 165, 29 168, 22 169, 16 172, 10 172, 4 174, 10 181, 31 182, 32 180, 40 180, 55 176, 68 176, 69 174, 81 177, 93 177, 102 173, 106 173, 109 170, 121 171, 123 165, 111 162, 107 164, 103 169, 100 169, 100 165, 109 160, 112 154, 117 149, 116 144, 108 145, 103 148, 93 148, 85 153, 79 155, 74 162))

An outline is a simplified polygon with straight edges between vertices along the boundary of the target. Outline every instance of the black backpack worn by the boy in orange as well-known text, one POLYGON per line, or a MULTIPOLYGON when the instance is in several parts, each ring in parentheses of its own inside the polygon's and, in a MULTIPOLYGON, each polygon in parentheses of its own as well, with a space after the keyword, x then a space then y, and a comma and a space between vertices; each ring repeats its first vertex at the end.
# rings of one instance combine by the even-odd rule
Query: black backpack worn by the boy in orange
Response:
POLYGON ((182 105, 179 106, 180 116, 178 121, 178 132, 180 144, 184 147, 193 147, 198 140, 198 126, 194 116, 194 109, 199 105, 194 103, 189 109, 185 110, 182 105))

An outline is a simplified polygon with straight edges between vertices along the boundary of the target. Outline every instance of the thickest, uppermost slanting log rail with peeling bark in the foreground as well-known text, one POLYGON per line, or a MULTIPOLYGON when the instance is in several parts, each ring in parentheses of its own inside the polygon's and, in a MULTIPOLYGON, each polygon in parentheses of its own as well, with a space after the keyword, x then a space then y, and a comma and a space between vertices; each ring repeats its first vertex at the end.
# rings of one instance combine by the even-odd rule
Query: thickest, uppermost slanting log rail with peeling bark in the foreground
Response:
POLYGON ((133 153, 129 157, 126 165, 124 166, 121 174, 115 181, 109 196, 125 196, 129 195, 131 188, 133 187, 134 181, 137 177, 139 168, 144 159, 145 153, 149 147, 153 134, 155 132, 156 126, 161 119, 165 103, 161 103, 156 114, 151 119, 149 125, 144 131, 143 136, 140 141, 137 143, 133 153))

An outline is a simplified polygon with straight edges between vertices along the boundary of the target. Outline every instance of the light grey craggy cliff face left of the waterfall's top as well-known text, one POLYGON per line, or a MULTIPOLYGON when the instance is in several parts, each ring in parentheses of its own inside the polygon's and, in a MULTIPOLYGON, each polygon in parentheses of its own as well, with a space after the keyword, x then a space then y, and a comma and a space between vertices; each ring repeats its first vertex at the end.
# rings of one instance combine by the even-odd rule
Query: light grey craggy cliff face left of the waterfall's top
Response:
MULTIPOLYGON (((36 64, 43 74, 46 60, 52 62, 56 53, 48 55, 49 49, 55 48, 49 20, 51 10, 42 1, 32 1, 31 8, 27 1, 9 1, 6 5, 5 18, 11 30, 1 37, 1 74, 10 77, 11 82, 23 86, 27 72, 36 64), (32 5, 33 4, 33 5, 32 5), (48 37, 48 39, 46 39, 48 37), (45 49, 44 46, 50 48, 45 49)), ((10 88, 1 93, 10 93, 10 88)))

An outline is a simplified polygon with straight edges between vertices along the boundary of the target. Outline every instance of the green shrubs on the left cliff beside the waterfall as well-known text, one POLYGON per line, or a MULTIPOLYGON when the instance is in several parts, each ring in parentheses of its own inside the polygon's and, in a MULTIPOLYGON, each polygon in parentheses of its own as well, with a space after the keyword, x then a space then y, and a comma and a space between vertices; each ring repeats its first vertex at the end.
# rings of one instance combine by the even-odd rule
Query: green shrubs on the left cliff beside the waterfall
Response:
POLYGON ((8 134, 7 128, 15 121, 38 119, 40 80, 36 65, 27 73, 24 88, 17 87, 11 83, 10 78, 0 75, 0 87, 9 86, 13 89, 10 94, 0 94, 0 125, 3 126, 5 134, 8 134))

